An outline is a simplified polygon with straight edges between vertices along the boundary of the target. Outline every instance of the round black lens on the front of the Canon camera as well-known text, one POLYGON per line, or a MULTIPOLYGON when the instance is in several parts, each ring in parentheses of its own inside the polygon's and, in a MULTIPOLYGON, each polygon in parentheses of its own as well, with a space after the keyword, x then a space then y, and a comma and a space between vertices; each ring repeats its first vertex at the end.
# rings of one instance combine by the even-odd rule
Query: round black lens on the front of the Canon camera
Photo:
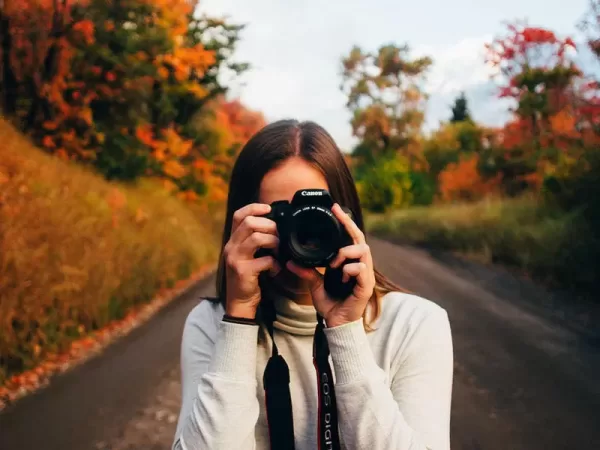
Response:
POLYGON ((290 250, 304 266, 327 264, 338 250, 339 229, 335 218, 318 209, 300 211, 294 216, 290 250))

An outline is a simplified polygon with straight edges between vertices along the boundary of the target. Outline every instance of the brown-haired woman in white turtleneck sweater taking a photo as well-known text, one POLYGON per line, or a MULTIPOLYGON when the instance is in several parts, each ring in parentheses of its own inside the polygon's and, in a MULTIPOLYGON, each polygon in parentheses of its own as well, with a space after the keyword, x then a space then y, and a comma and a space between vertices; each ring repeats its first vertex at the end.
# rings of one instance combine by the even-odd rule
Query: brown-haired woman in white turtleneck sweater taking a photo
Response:
POLYGON ((279 121, 250 139, 222 245, 217 299, 200 302, 183 331, 174 449, 450 448, 448 316, 374 268, 352 176, 323 128, 279 121), (311 188, 330 192, 352 237, 330 264, 356 281, 342 301, 324 289, 323 269, 257 255, 278 248, 275 222, 262 217, 269 205, 311 188))

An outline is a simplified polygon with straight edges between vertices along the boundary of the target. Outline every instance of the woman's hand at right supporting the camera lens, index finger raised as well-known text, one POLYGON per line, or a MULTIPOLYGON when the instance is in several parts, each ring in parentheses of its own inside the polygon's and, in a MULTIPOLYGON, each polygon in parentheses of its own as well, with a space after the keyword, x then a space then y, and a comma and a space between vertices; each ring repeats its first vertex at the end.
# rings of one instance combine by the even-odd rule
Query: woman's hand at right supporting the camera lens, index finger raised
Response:
POLYGON ((360 319, 375 289, 373 258, 364 233, 337 203, 333 206, 332 211, 346 228, 354 244, 340 249, 329 265, 335 268, 339 267, 346 259, 358 260, 358 262, 346 264, 343 268, 344 282, 348 281, 350 277, 356 277, 356 286, 352 294, 344 300, 333 299, 325 291, 323 275, 316 269, 303 268, 291 261, 287 264, 287 268, 291 272, 309 283, 315 309, 325 319, 329 328, 360 319))

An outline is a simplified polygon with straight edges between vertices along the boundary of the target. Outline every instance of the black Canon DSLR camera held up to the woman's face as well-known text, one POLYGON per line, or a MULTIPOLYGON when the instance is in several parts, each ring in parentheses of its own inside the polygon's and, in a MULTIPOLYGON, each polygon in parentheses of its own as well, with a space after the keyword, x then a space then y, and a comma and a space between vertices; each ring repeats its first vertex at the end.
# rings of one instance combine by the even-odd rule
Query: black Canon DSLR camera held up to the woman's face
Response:
MULTIPOLYGON (((342 247, 353 244, 344 225, 331 211, 333 199, 324 189, 302 189, 294 194, 292 202, 280 200, 271 204, 271 212, 264 215, 277 224, 279 248, 277 260, 285 266, 289 260, 302 267, 327 267, 342 247)), ((350 210, 342 207, 350 214, 350 210)), ((270 254, 267 249, 261 255, 270 254)), ((346 260, 344 264, 353 262, 346 260)), ((325 270, 324 284, 334 298, 346 298, 354 289, 356 279, 342 283, 342 266, 325 270)))

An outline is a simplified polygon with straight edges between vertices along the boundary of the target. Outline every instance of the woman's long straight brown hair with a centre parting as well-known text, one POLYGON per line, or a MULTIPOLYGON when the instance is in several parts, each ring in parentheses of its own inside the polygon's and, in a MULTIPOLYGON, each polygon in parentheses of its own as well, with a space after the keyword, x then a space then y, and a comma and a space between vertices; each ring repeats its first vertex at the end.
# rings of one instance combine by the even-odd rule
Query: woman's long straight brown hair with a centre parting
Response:
MULTIPOLYGON (((342 152, 325 129, 314 122, 280 120, 256 133, 240 152, 229 182, 227 212, 223 228, 221 255, 217 269, 217 300, 226 299, 223 248, 231 236, 233 214, 256 202, 263 177, 291 157, 303 158, 325 177, 333 200, 352 211, 352 218, 364 232, 364 221, 354 179, 342 152)), ((367 329, 381 314, 381 298, 390 291, 404 291, 375 269, 376 288, 369 300, 371 314, 363 320, 367 329)))

